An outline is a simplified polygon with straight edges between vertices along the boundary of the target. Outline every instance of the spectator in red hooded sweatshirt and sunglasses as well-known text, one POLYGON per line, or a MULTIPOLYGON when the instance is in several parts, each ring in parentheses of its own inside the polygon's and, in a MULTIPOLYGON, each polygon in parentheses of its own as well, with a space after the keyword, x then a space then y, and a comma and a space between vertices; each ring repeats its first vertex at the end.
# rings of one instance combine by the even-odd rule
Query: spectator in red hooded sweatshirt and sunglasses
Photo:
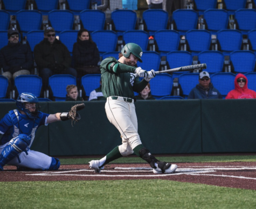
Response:
POLYGON ((234 89, 227 93, 226 99, 255 99, 256 92, 248 89, 247 77, 241 73, 234 78, 234 89))

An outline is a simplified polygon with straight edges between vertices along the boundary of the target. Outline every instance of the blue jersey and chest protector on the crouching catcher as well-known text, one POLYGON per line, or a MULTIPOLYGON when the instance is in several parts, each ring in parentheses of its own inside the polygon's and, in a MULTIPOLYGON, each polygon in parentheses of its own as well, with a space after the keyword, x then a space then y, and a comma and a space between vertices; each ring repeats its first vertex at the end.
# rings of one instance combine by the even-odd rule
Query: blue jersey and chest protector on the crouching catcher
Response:
POLYGON ((48 125, 46 122, 48 116, 49 114, 39 112, 36 119, 31 119, 26 114, 20 114, 18 110, 9 111, 0 121, 0 134, 3 134, 0 146, 9 142, 19 134, 29 135, 31 137, 31 146, 37 128, 41 125, 48 125))

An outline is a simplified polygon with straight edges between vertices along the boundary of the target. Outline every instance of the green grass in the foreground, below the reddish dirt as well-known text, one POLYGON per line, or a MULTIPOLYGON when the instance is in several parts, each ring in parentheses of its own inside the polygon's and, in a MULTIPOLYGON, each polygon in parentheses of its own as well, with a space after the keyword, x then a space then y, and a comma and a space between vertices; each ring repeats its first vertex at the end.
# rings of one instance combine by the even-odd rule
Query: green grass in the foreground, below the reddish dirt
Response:
POLYGON ((256 191, 166 180, 0 182, 0 208, 255 208, 256 191))

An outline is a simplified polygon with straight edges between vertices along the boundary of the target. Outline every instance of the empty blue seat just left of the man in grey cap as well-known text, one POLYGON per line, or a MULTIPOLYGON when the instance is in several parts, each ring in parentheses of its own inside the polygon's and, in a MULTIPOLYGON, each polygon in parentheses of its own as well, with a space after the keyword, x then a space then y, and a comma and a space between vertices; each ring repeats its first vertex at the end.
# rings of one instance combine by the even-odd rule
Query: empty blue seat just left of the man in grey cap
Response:
POLYGON ((183 73, 179 76, 179 84, 185 99, 188 98, 190 91, 196 87, 199 80, 199 73, 183 73))

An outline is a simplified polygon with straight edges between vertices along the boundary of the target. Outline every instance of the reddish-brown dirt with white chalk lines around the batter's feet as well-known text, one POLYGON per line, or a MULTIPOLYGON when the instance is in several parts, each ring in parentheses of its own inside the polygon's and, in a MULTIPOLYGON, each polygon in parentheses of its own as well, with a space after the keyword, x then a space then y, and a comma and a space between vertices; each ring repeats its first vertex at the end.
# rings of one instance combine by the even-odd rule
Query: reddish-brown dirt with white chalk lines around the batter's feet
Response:
POLYGON ((86 165, 61 165, 57 171, 17 171, 6 166, 0 182, 16 181, 94 181, 116 179, 167 179, 256 190, 256 162, 178 163, 175 174, 153 174, 148 164, 111 164, 100 174, 86 165))

